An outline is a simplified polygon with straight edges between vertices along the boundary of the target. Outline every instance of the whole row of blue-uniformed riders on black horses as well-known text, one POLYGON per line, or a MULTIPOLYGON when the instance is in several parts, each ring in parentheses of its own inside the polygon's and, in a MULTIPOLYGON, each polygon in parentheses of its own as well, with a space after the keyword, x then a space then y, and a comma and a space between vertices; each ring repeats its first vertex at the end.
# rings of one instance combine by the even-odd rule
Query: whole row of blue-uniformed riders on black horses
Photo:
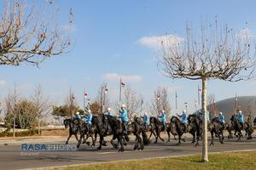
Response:
MULTIPOLYGON (((77 112, 71 118, 65 119, 64 124, 65 127, 69 127, 67 143, 70 137, 74 135, 79 141, 78 148, 82 140, 83 143, 90 144, 90 142, 86 142, 88 138, 92 140, 91 145, 95 146, 97 136, 99 136, 99 147, 97 149, 101 150, 102 145, 106 145, 104 137, 113 135, 110 141, 113 148, 123 151, 124 145, 129 141, 128 135, 133 133, 136 136, 134 150, 143 150, 144 145, 149 144, 152 134, 155 138, 154 143, 157 143, 158 139, 164 141, 160 137, 161 132, 168 134, 167 142, 170 142, 171 134, 174 136, 174 139, 178 136, 177 144, 181 144, 181 140, 185 141, 184 138, 182 139, 184 133, 190 133, 193 136, 192 143, 195 143, 195 146, 199 145, 199 140, 202 137, 202 115, 202 111, 191 115, 183 111, 180 115, 172 116, 170 122, 166 122, 166 111, 162 110, 157 117, 149 117, 148 113, 145 112, 143 116, 135 116, 133 122, 129 122, 126 106, 122 105, 119 110, 119 116, 114 116, 110 108, 108 108, 107 113, 97 116, 92 115, 89 110, 84 116, 80 116, 79 112, 77 112), (150 133, 149 137, 147 132, 150 133), (78 133, 80 133, 80 138, 78 133), (117 143, 114 142, 115 139, 118 140, 117 143)), ((238 140, 241 140, 242 130, 246 132, 247 139, 252 139, 253 127, 250 117, 247 119, 247 122, 244 122, 243 114, 239 111, 230 117, 230 122, 225 122, 222 112, 219 112, 218 116, 214 116, 210 120, 210 113, 207 111, 207 129, 212 136, 210 145, 213 145, 214 136, 218 137, 219 142, 223 144, 223 131, 225 129, 229 132, 228 139, 233 138, 232 131, 235 131, 236 137, 238 137, 238 140)))

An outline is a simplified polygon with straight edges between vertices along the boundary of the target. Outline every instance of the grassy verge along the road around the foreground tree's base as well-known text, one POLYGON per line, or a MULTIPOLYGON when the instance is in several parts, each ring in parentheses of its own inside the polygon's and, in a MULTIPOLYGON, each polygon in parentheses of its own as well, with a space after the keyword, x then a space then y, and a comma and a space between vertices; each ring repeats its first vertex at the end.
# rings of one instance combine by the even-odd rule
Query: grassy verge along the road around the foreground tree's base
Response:
POLYGON ((256 169, 256 151, 210 154, 209 162, 201 163, 201 156, 183 156, 173 158, 155 158, 141 161, 117 161, 109 163, 89 164, 78 167, 61 167, 55 170, 82 170, 82 169, 256 169))

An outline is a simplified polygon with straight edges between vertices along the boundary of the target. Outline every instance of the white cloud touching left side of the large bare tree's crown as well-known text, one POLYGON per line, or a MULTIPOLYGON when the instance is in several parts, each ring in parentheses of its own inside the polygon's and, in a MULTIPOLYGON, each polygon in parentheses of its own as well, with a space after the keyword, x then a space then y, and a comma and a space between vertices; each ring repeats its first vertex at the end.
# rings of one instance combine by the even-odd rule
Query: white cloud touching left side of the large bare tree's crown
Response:
POLYGON ((137 43, 152 49, 159 49, 161 45, 175 45, 178 42, 183 42, 183 37, 171 34, 166 36, 142 37, 137 40, 137 43))

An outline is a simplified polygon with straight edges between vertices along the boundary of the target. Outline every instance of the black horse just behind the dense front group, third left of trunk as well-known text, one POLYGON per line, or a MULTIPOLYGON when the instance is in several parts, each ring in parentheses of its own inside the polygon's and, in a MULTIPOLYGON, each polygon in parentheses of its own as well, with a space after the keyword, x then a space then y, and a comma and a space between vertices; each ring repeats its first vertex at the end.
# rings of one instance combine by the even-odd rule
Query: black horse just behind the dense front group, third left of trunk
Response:
POLYGON ((163 132, 163 131, 165 131, 165 126, 163 125, 163 123, 160 122, 160 120, 159 120, 158 118, 154 117, 154 116, 151 116, 151 117, 149 118, 149 122, 150 122, 149 126, 150 126, 150 132, 151 132, 151 133, 150 133, 150 136, 149 136, 148 139, 151 138, 152 133, 153 133, 153 134, 154 134, 154 137, 155 137, 154 144, 157 143, 158 138, 159 138, 161 141, 164 142, 165 140, 160 137, 160 133, 163 132))

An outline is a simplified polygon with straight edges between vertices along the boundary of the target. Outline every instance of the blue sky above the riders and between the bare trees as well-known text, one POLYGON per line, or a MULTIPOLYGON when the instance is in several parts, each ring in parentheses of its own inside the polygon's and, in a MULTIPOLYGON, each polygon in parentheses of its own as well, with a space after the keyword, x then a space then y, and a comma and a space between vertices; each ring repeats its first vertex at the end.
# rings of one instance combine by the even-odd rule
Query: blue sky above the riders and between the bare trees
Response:
MULTIPOLYGON (((28 1, 32 2, 32 1, 28 1)), ((227 23, 236 31, 246 25, 254 35, 256 31, 255 1, 58 1, 61 8, 60 20, 67 20, 68 8, 73 8, 74 47, 68 54, 61 54, 40 65, 1 66, 0 96, 3 99, 14 82, 21 95, 32 94, 41 84, 44 95, 63 103, 69 88, 73 88, 79 105, 83 91, 91 98, 102 82, 108 83, 111 99, 118 99, 119 77, 143 94, 153 98, 154 89, 166 86, 170 89, 170 100, 174 108, 177 90, 178 109, 188 102, 189 111, 195 110, 198 81, 172 80, 163 77, 156 66, 158 53, 151 42, 142 42, 143 37, 152 40, 166 34, 184 37, 186 22, 199 28, 204 20, 227 23), (151 39, 150 39, 151 38, 151 39)), ((154 41, 153 41, 154 42, 154 41)), ((209 94, 216 99, 238 95, 255 95, 256 82, 210 81, 209 94)))

